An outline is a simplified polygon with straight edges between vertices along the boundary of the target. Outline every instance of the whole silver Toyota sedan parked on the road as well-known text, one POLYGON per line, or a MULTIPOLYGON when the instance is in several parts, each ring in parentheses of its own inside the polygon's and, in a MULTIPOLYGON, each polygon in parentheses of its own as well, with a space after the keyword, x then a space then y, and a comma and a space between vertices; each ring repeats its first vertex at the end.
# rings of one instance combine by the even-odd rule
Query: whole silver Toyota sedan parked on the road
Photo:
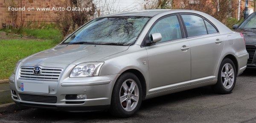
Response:
POLYGON ((230 93, 247 64, 242 34, 208 14, 141 10, 98 17, 59 45, 20 60, 20 106, 134 115, 143 100, 212 86, 230 93))

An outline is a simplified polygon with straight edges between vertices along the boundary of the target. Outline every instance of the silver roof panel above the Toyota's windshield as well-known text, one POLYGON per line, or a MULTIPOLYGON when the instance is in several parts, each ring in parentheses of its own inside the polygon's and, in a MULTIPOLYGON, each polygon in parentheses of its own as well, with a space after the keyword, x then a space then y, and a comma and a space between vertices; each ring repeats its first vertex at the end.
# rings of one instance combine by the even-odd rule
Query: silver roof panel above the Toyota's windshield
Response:
POLYGON ((172 11, 175 9, 146 9, 146 10, 135 10, 135 11, 125 11, 114 14, 103 15, 101 17, 115 17, 115 16, 144 16, 153 17, 156 14, 163 13, 166 11, 172 11))

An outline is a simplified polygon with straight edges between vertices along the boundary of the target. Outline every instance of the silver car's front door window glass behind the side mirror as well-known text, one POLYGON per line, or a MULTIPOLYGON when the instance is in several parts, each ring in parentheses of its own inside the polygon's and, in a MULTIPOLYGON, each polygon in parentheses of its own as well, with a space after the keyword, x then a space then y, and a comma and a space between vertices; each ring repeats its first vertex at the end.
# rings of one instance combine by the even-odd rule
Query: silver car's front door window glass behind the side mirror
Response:
MULTIPOLYGON (((180 23, 176 15, 159 20, 149 32, 149 36, 154 33, 160 33, 162 35, 160 42, 182 39, 180 23)), ((149 37, 149 39, 151 38, 149 37)))

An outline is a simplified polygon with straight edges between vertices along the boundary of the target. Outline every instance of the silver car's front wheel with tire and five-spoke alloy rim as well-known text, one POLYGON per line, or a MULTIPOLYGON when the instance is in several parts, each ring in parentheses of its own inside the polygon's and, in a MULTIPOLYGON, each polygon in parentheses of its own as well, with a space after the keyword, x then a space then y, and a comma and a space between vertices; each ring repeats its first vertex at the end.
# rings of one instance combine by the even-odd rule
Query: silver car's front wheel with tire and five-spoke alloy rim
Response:
POLYGON ((142 97, 139 78, 133 73, 123 73, 113 87, 110 113, 116 117, 131 117, 140 109, 142 97))

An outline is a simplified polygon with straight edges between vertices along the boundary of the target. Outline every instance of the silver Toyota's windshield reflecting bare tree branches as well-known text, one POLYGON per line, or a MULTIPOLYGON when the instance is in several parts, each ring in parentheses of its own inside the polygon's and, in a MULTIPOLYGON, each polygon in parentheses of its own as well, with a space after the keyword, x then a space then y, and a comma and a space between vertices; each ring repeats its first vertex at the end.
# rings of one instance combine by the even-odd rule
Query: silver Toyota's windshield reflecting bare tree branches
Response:
POLYGON ((132 45, 150 17, 105 17, 87 23, 62 44, 132 45))

